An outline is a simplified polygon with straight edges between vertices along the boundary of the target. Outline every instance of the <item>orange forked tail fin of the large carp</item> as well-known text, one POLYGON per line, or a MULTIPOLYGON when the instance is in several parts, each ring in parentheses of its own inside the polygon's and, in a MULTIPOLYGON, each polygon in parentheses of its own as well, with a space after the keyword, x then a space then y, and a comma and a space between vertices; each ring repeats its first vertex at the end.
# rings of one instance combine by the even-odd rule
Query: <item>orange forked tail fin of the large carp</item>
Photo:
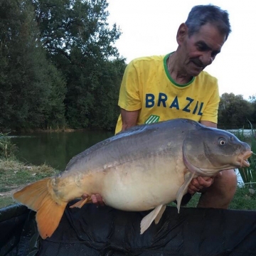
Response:
POLYGON ((54 201, 48 191, 51 178, 36 181, 14 193, 14 199, 19 203, 35 210, 38 231, 43 239, 50 237, 60 223, 67 202, 54 201))

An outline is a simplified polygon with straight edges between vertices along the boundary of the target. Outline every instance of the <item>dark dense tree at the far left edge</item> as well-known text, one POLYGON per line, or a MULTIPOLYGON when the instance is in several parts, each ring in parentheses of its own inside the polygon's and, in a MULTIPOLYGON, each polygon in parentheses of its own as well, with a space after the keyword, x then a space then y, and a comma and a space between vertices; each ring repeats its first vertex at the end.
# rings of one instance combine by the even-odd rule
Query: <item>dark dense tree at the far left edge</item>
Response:
POLYGON ((0 0, 0 10, 1 129, 43 128, 56 122, 50 119, 53 111, 63 123, 65 80, 46 59, 33 6, 0 0), (53 98, 56 87, 59 93, 53 98))

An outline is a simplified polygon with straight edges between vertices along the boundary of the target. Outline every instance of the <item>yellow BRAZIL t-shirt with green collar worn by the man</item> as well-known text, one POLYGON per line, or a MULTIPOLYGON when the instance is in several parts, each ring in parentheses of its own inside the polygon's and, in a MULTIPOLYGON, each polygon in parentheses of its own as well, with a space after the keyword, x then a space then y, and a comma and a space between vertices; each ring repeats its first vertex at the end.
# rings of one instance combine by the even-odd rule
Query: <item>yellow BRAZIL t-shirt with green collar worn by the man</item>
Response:
MULTIPOLYGON (((124 110, 140 110, 137 124, 187 118, 217 123, 220 101, 216 78, 205 71, 186 85, 178 85, 169 75, 168 55, 137 58, 127 65, 118 105, 124 110)), ((122 129, 119 115, 115 132, 122 129)))

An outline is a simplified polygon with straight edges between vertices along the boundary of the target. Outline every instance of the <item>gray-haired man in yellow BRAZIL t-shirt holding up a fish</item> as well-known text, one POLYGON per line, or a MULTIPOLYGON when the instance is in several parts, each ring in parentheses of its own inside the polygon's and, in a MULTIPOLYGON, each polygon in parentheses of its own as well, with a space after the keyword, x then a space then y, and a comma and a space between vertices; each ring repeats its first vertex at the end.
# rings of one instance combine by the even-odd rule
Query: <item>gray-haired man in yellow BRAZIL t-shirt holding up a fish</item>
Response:
MULTIPOLYGON (((227 11, 212 5, 194 6, 178 28, 174 53, 132 60, 120 88, 116 133, 137 124, 174 118, 217 128, 218 82, 203 69, 213 63, 230 31, 227 11)), ((194 178, 183 204, 200 191, 198 207, 228 208, 236 187, 234 170, 194 178)), ((102 204, 102 198, 93 195, 92 202, 102 204)))

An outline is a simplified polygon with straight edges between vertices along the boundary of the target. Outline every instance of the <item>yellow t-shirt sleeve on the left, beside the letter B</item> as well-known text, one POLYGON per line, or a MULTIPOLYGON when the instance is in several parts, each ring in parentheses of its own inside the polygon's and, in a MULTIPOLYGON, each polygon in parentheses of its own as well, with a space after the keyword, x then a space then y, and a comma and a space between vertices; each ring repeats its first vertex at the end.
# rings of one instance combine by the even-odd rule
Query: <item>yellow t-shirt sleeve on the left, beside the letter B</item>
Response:
POLYGON ((124 70, 118 105, 127 111, 140 110, 142 108, 142 101, 139 94, 138 71, 135 68, 134 60, 124 70))

